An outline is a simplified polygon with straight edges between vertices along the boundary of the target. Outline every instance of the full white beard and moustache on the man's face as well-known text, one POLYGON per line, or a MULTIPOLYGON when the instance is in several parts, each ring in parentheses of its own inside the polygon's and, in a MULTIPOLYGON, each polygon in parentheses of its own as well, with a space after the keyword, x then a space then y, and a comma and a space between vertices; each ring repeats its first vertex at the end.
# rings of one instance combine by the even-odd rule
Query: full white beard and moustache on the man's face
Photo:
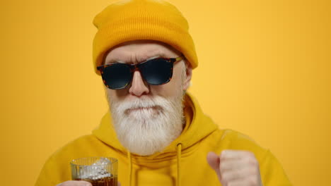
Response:
POLYGON ((141 156, 162 151, 182 132, 182 99, 183 94, 173 99, 159 96, 119 102, 108 99, 118 140, 130 152, 141 156))

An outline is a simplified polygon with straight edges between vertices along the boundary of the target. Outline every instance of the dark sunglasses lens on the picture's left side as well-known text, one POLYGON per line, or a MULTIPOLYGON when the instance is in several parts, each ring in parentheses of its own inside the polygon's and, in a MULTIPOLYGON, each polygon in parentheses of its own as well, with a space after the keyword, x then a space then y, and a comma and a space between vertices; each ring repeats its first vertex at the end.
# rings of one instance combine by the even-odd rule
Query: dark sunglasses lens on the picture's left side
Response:
POLYGON ((103 69, 103 80, 110 89, 122 89, 130 79, 130 68, 125 64, 116 63, 103 69))

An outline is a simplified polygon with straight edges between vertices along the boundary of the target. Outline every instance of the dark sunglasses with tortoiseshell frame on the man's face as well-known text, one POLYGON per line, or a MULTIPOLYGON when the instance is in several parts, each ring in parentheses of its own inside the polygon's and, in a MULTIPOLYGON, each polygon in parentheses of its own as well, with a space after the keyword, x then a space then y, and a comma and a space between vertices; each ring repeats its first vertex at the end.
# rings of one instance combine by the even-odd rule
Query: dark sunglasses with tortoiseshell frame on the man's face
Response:
POLYGON ((150 85, 163 85, 173 77, 173 63, 184 59, 153 58, 138 64, 110 63, 98 66, 103 83, 110 89, 124 89, 132 81, 133 73, 139 70, 143 79, 150 85))

